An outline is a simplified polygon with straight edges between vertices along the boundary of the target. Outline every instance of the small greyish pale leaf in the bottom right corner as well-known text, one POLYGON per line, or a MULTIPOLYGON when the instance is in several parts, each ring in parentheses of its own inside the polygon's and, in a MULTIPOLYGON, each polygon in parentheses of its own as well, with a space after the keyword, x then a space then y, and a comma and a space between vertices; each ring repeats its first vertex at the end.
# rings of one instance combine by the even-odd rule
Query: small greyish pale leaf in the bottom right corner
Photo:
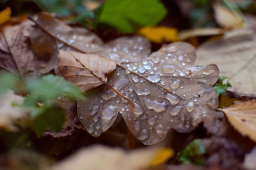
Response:
POLYGON ((243 168, 248 170, 256 169, 256 147, 252 149, 250 153, 247 153, 244 157, 243 168))

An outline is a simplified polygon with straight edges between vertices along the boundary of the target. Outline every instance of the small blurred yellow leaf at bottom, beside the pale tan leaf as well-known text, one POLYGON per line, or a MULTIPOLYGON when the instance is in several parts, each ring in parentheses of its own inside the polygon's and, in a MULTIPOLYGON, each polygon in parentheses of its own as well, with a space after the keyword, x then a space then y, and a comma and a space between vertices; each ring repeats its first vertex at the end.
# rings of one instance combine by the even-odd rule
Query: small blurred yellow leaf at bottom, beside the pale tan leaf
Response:
POLYGON ((159 164, 163 164, 167 159, 170 159, 173 156, 173 153, 172 148, 162 148, 158 150, 151 165, 158 166, 159 164))

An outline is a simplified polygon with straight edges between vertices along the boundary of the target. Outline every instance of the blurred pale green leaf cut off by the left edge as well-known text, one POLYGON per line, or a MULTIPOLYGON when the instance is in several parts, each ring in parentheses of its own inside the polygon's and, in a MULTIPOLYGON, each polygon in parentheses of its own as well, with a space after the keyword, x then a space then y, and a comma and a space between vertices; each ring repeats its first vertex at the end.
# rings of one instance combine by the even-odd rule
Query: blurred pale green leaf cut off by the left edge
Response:
POLYGON ((12 73, 1 72, 0 73, 0 95, 6 92, 8 89, 15 89, 15 85, 19 81, 19 78, 12 73))

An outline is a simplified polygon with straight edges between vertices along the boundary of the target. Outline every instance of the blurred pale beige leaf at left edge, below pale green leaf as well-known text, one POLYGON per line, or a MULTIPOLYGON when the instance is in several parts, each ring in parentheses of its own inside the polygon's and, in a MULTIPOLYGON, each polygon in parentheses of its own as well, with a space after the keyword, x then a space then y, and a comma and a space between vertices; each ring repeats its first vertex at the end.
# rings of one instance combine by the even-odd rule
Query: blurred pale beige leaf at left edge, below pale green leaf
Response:
POLYGON ((17 132, 19 126, 29 125, 29 111, 13 103, 22 104, 24 97, 15 95, 12 90, 0 96, 0 128, 6 131, 17 132))

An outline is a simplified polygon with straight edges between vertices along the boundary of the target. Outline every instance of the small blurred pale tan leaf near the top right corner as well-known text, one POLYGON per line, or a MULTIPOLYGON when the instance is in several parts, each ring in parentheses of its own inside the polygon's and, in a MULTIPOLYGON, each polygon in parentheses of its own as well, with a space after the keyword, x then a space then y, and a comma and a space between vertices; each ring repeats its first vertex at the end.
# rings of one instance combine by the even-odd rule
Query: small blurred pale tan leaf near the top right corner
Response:
POLYGON ((232 11, 228 10, 220 4, 214 4, 214 17, 216 22, 224 28, 241 28, 243 27, 243 20, 239 20, 232 11))

